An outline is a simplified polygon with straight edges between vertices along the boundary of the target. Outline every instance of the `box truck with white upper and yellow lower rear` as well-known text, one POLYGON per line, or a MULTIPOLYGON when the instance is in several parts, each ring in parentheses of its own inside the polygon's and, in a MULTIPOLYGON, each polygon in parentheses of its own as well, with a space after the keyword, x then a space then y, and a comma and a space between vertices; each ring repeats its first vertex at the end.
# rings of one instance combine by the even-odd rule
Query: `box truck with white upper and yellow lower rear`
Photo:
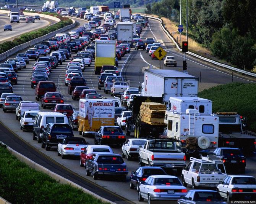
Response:
POLYGON ((100 74, 103 65, 115 66, 115 40, 95 42, 95 74, 100 74))

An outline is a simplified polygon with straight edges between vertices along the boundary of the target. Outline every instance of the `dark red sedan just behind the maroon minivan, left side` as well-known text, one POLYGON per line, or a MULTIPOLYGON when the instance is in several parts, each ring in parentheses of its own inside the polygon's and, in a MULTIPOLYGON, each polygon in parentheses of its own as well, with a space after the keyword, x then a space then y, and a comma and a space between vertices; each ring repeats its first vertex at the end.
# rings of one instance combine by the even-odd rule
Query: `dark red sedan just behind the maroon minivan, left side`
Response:
POLYGON ((64 104, 62 95, 58 92, 47 92, 41 100, 41 107, 55 107, 56 104, 64 104))

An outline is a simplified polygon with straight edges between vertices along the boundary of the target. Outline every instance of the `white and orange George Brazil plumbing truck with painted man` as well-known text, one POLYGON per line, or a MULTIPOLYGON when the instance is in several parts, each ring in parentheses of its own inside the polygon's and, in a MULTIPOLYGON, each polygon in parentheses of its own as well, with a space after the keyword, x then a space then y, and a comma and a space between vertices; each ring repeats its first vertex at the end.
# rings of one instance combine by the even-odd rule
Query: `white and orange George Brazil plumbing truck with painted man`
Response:
POLYGON ((94 135, 100 126, 115 124, 115 103, 109 99, 80 99, 78 115, 80 135, 94 135))

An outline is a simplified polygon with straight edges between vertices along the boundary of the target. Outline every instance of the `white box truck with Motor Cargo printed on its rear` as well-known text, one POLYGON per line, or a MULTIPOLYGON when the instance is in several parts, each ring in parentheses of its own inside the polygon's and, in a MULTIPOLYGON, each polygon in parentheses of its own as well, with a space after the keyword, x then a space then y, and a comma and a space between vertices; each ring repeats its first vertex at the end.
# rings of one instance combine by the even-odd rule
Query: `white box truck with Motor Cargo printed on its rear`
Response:
POLYGON ((128 41, 132 47, 133 45, 133 23, 132 22, 117 23, 117 40, 128 41))

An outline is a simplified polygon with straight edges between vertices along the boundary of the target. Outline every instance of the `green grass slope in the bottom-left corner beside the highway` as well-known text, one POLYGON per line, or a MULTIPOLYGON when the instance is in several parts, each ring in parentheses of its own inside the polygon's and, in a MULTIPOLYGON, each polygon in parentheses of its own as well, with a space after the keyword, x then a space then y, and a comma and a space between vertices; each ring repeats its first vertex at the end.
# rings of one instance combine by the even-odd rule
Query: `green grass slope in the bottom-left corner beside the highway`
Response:
MULTIPOLYGON (((15 204, 103 204, 71 185, 61 184, 11 155, 0 144, 0 196, 15 204)), ((106 204, 106 203, 105 203, 106 204)))

